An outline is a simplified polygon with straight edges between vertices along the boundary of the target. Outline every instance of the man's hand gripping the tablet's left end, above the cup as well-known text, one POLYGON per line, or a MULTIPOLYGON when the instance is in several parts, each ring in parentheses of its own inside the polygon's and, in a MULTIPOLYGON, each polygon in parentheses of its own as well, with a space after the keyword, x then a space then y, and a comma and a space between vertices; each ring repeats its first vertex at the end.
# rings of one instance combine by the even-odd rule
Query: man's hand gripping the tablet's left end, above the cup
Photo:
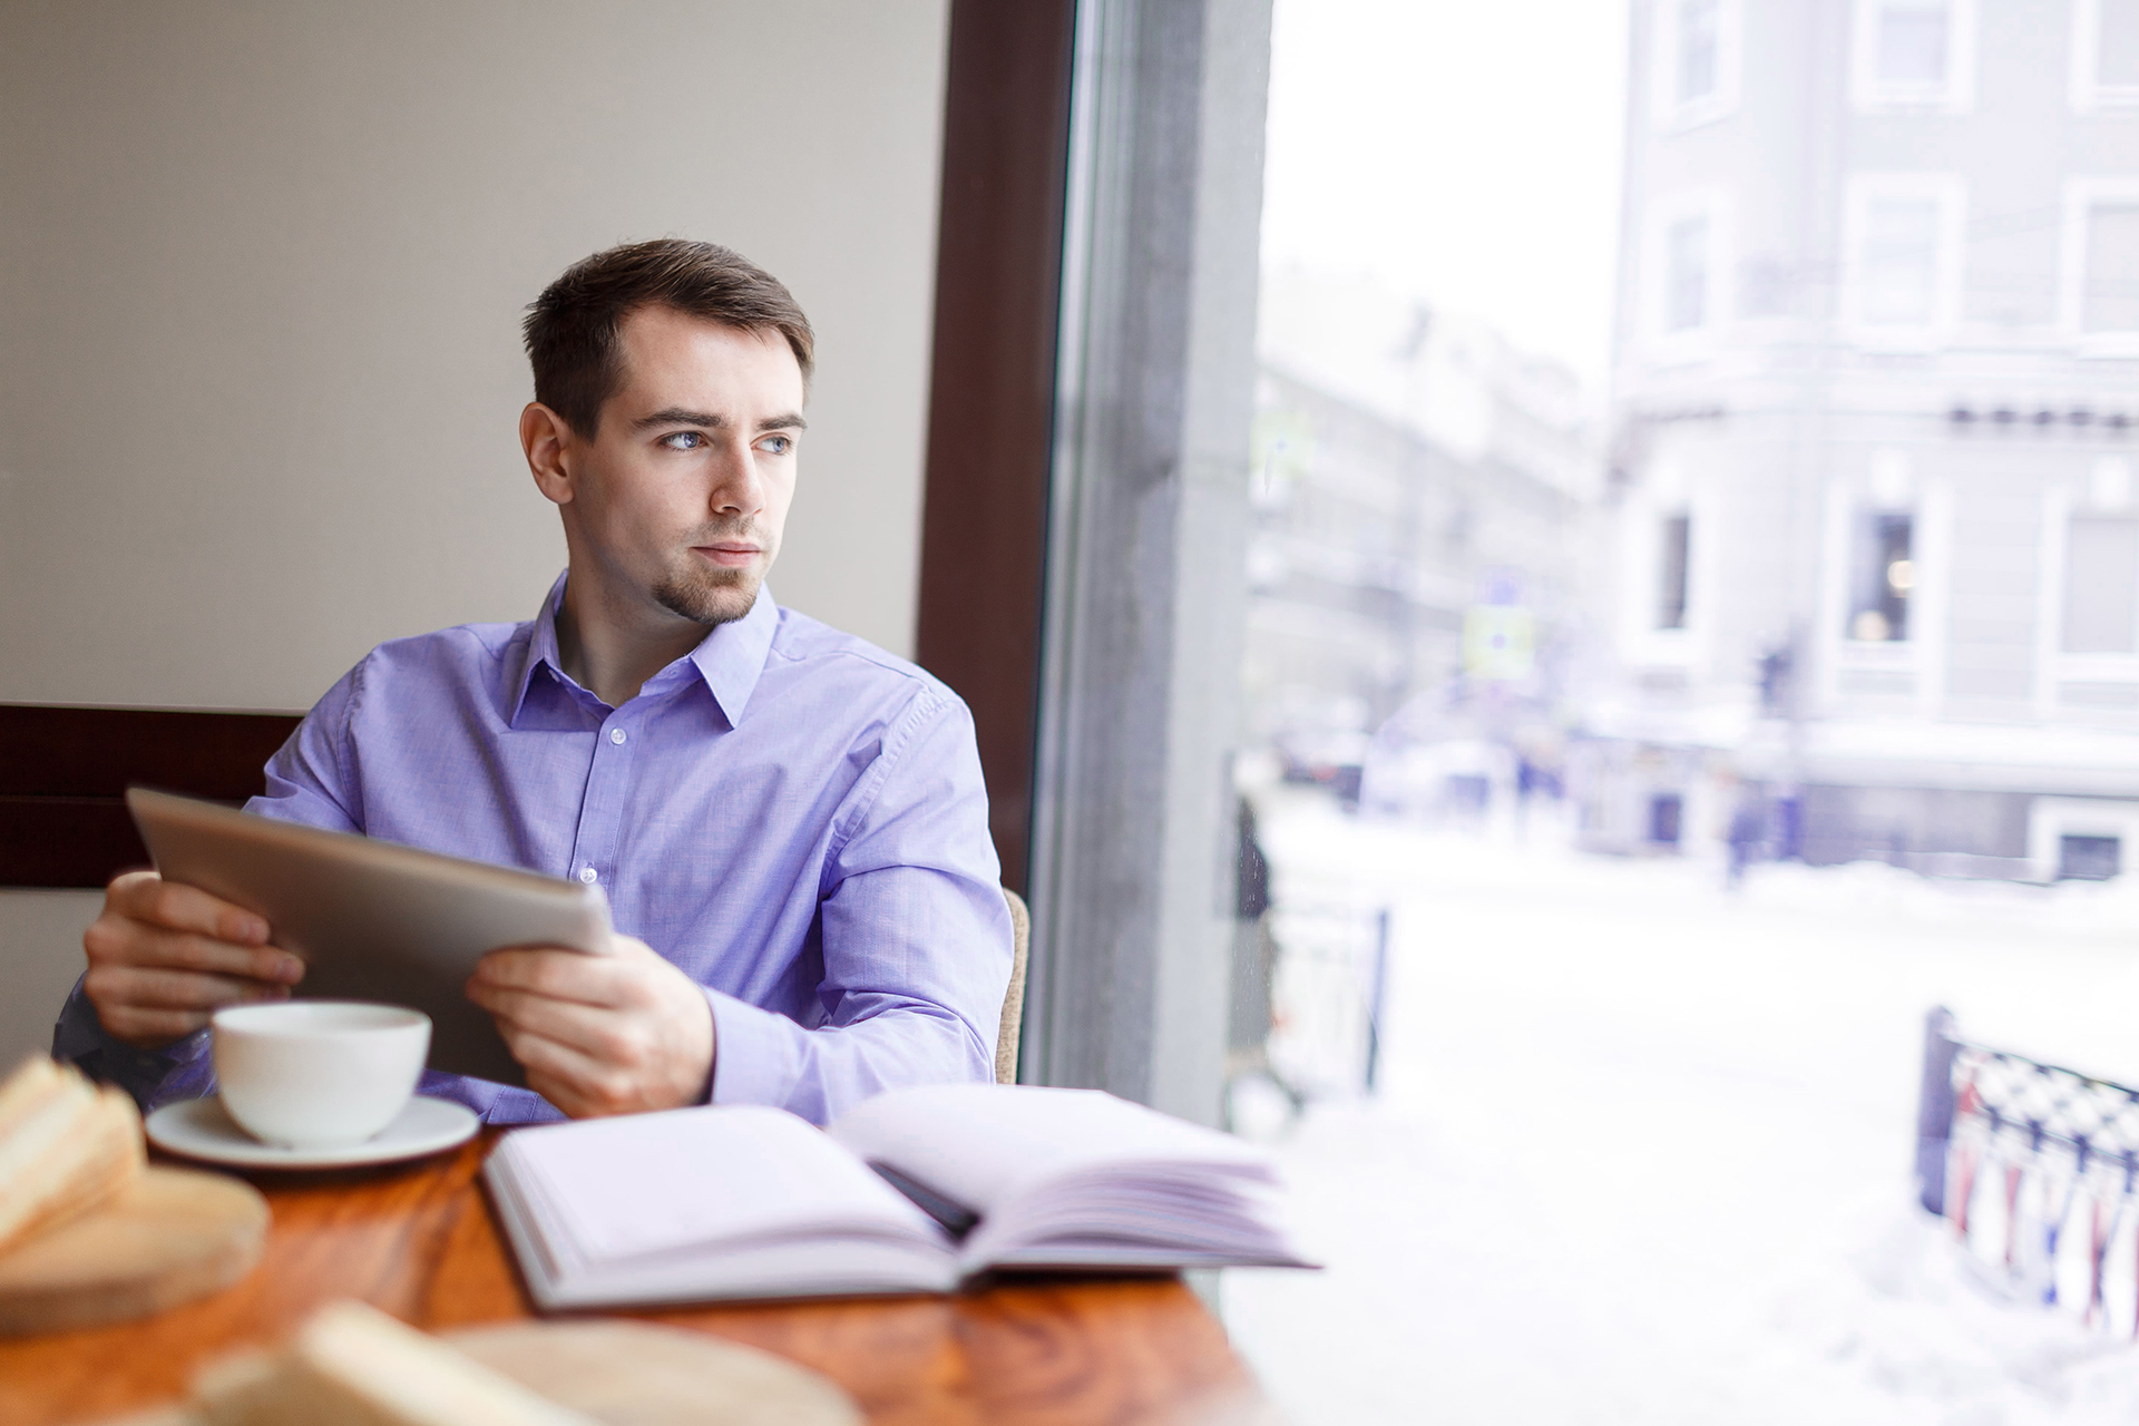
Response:
POLYGON ((105 887, 81 949, 96 1018, 137 1050, 193 1035, 225 1005, 287 998, 304 979, 302 960, 267 945, 267 921, 156 872, 126 872, 105 887))

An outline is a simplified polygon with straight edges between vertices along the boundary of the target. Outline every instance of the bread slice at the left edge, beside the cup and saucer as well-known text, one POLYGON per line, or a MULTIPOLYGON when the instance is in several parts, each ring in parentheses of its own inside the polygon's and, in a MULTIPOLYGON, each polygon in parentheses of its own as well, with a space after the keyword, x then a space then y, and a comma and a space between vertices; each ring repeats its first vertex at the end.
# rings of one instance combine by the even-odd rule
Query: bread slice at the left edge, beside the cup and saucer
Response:
POLYGON ((96 1208, 143 1163, 133 1099, 73 1065, 30 1056, 0 1082, 0 1253, 96 1208))

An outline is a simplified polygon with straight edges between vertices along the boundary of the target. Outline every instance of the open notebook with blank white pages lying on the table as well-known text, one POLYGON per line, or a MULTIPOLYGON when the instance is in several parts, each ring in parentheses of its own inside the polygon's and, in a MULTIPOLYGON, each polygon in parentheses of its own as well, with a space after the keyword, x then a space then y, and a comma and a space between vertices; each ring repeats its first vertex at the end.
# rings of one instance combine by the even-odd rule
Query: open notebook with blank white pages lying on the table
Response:
POLYGON ((749 1105, 543 1125, 483 1178, 543 1308, 1311 1266, 1266 1152, 1097 1090, 892 1090, 828 1131, 749 1105))

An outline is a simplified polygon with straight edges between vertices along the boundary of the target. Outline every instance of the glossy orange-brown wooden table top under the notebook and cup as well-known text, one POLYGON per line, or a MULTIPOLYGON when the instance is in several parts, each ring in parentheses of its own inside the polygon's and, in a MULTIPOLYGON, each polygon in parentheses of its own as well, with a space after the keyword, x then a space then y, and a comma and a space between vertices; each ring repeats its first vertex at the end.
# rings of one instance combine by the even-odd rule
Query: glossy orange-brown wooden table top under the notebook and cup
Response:
MULTIPOLYGON (((250 1276, 137 1323, 0 1338, 0 1422, 92 1422, 175 1400, 203 1362, 282 1340, 329 1298, 441 1330, 528 1317, 475 1178, 494 1137, 409 1167, 250 1176, 274 1208, 250 1276)), ((633 1315, 813 1366, 871 1422, 1268 1420, 1217 1321, 1172 1278, 633 1315)))

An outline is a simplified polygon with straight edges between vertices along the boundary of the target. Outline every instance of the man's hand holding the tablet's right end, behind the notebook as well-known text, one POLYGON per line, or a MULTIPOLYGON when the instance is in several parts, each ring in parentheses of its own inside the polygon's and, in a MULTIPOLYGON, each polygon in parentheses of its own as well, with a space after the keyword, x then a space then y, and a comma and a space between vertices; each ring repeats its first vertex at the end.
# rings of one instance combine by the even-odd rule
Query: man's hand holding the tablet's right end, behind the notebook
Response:
POLYGON ((631 936, 607 956, 490 951, 468 977, 528 1088, 573 1118, 704 1103, 712 1007, 689 975, 631 936))

